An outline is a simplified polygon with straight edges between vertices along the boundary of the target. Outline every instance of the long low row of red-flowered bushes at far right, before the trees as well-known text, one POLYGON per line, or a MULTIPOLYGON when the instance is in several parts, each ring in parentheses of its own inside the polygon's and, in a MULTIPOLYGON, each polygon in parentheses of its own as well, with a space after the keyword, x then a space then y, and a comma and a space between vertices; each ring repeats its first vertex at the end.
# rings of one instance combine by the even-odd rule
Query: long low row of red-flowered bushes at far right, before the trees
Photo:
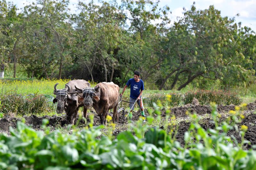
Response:
POLYGON ((188 91, 184 94, 183 103, 191 104, 194 98, 196 98, 201 105, 207 105, 211 102, 214 102, 218 105, 239 105, 242 103, 242 99, 235 92, 222 90, 188 91))

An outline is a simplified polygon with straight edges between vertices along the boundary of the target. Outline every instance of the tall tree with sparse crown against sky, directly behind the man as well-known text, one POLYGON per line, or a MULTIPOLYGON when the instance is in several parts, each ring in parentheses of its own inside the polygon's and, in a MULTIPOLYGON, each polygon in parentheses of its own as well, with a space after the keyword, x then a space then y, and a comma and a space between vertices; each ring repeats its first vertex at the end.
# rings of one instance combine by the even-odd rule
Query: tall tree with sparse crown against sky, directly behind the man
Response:
POLYGON ((159 1, 151 0, 122 0, 122 7, 127 11, 126 18, 130 22, 128 31, 133 34, 139 52, 133 54, 133 69, 142 72, 144 81, 156 82, 156 70, 164 60, 159 42, 165 34, 167 24, 170 23, 168 6, 158 8, 159 1))

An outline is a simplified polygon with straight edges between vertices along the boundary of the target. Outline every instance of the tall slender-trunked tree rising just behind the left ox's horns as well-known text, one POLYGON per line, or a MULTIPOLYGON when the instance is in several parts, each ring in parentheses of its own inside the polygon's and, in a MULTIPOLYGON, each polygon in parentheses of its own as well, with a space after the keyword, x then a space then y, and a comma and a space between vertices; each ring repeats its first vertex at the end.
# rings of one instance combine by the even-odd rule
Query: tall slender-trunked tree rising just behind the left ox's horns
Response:
POLYGON ((45 76, 51 77, 59 64, 61 78, 64 64, 70 64, 70 49, 73 44, 72 26, 69 22, 68 0, 37 0, 25 7, 30 47, 36 52, 36 61, 42 64, 45 76), (33 47, 33 44, 36 44, 33 47))

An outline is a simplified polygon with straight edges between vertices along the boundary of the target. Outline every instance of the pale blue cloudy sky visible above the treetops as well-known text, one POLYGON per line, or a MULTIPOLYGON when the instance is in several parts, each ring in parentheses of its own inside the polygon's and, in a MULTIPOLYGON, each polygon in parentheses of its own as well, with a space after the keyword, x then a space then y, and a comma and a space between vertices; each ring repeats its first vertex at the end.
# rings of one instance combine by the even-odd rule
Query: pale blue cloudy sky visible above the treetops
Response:
MULTIPOLYGON (((18 8, 23 8, 25 5, 28 5, 36 0, 7 0, 12 1, 13 4, 16 4, 18 8)), ((89 2, 90 0, 84 0, 84 2, 89 2)), ((121 0, 117 0, 120 2, 121 0)), ((77 0, 69 0, 69 8, 71 12, 75 12, 75 6, 77 0)), ((94 2, 98 2, 94 0, 94 2)), ((256 32, 256 0, 160 0, 159 7, 168 5, 172 14, 170 18, 173 21, 177 20, 177 17, 183 16, 183 7, 187 10, 190 10, 191 5, 195 2, 197 10, 208 9, 210 5, 214 5, 215 9, 221 11, 221 16, 228 18, 233 18, 237 13, 240 14, 239 17, 236 17, 236 22, 242 22, 242 26, 251 27, 252 30, 256 32)))

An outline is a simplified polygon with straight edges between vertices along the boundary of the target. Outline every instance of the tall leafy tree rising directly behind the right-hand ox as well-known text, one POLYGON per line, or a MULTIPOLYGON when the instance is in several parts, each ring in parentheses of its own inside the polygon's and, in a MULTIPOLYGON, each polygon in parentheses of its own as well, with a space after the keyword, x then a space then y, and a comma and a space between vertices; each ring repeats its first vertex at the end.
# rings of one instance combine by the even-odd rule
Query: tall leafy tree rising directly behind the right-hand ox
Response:
POLYGON ((80 2, 79 8, 82 12, 76 17, 77 46, 74 54, 80 65, 86 66, 92 80, 93 72, 97 70, 103 72, 104 81, 112 81, 114 70, 119 65, 119 46, 124 43, 120 26, 124 16, 116 4, 103 1, 100 5, 80 2))

